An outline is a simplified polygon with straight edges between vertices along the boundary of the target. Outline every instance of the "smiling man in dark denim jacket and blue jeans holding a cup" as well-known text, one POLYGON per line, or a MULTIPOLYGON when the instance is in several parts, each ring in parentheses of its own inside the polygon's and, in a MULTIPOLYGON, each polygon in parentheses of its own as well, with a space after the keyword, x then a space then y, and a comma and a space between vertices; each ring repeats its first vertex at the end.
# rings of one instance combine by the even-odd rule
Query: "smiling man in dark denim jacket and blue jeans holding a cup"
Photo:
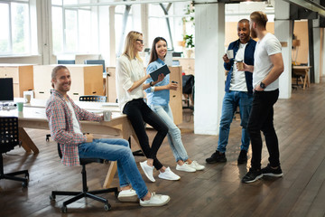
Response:
POLYGON ((207 163, 214 164, 226 162, 226 146, 228 144, 230 124, 234 113, 239 106, 240 126, 242 128, 240 154, 237 159, 238 164, 247 162, 247 150, 249 147, 249 135, 247 132, 247 122, 253 101, 253 75, 249 71, 238 71, 237 61, 244 61, 246 64, 254 64, 254 52, 256 42, 250 37, 249 21, 242 19, 237 24, 239 39, 231 42, 228 51, 232 50, 234 58, 228 58, 225 54, 222 58, 225 61, 224 67, 228 71, 226 80, 225 97, 222 104, 222 113, 219 127, 218 147, 215 153, 206 159, 207 163))

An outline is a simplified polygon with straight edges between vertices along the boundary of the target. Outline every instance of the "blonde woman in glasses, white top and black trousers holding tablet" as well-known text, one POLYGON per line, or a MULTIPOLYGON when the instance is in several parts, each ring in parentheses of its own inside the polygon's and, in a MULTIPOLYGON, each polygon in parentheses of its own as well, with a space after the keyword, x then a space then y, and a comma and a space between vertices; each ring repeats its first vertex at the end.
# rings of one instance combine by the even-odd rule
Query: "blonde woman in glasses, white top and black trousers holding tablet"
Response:
POLYGON ((131 31, 125 39, 125 50, 116 64, 116 93, 118 104, 121 111, 130 120, 135 129, 140 146, 144 151, 147 160, 141 162, 141 168, 144 174, 152 182, 153 166, 159 170, 158 177, 166 180, 179 180, 181 177, 172 173, 169 167, 165 167, 157 159, 157 152, 163 143, 164 137, 168 132, 168 127, 163 123, 152 109, 144 102, 144 90, 151 85, 163 80, 163 77, 152 83, 144 84, 144 81, 150 78, 144 72, 144 64, 139 56, 144 48, 144 38, 142 33, 131 31), (149 146, 149 139, 145 132, 144 122, 151 125, 158 132, 153 138, 153 145, 149 146))

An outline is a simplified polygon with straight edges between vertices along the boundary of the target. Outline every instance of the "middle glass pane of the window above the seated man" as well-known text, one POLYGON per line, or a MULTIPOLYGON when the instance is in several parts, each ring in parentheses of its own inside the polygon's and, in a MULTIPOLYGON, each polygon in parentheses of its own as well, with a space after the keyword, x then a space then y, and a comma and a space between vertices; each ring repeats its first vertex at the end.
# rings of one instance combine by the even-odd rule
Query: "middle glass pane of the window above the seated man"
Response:
POLYGON ((65 10, 65 52, 77 52, 78 21, 77 11, 65 10))

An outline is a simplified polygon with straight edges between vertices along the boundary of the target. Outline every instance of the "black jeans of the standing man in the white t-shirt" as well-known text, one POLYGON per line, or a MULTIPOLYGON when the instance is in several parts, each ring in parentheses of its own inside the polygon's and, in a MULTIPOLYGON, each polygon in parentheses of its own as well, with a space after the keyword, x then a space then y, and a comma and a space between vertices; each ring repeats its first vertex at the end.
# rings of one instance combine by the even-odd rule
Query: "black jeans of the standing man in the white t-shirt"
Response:
POLYGON ((274 103, 279 97, 279 90, 255 91, 252 110, 248 120, 248 133, 252 143, 251 165, 254 169, 261 168, 262 137, 265 135, 265 143, 269 152, 271 166, 280 165, 279 143, 274 130, 274 103))

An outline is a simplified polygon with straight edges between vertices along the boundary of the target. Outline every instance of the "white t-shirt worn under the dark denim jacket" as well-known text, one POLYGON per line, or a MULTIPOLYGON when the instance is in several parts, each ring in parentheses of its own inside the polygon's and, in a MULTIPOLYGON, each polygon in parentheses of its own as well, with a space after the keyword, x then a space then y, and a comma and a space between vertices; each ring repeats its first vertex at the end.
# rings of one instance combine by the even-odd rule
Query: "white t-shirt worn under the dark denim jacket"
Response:
MULTIPOLYGON (((235 56, 235 60, 244 61, 245 48, 247 43, 239 42, 239 48, 235 56)), ((236 61, 234 61, 233 71, 231 74, 231 82, 229 90, 247 91, 245 71, 238 71, 236 61)))

